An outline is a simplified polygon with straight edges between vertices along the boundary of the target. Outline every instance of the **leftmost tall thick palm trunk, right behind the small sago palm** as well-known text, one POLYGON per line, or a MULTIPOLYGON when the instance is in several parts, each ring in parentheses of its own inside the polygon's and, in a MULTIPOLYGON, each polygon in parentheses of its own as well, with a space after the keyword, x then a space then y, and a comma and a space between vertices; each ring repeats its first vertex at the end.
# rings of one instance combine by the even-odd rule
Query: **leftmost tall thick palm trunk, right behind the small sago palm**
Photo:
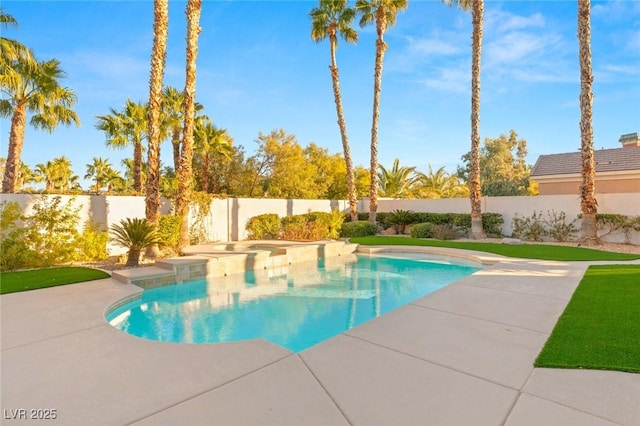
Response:
MULTIPOLYGON (((161 129, 162 85, 167 52, 167 34, 169 31, 169 0, 154 0, 153 15, 145 216, 150 225, 157 227, 160 209, 160 143, 163 139, 161 129)), ((152 244, 147 249, 149 257, 157 257, 159 253, 160 250, 157 244, 152 244)))

